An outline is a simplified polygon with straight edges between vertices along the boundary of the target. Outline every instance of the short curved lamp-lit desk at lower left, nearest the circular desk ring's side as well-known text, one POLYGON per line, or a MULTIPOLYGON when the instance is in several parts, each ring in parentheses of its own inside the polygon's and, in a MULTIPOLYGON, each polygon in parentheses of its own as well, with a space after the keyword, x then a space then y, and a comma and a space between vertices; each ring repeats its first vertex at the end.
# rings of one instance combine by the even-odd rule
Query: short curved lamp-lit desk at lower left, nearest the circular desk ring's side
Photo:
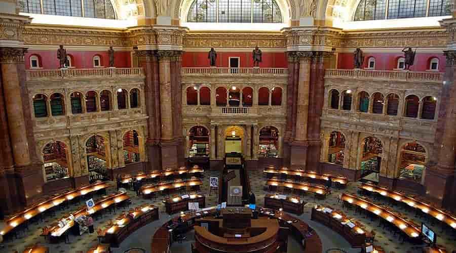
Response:
POLYGON ((159 208, 152 204, 143 204, 127 214, 120 215, 114 224, 104 229, 104 242, 111 247, 119 247, 121 242, 131 233, 135 232, 144 225, 159 219, 159 208))

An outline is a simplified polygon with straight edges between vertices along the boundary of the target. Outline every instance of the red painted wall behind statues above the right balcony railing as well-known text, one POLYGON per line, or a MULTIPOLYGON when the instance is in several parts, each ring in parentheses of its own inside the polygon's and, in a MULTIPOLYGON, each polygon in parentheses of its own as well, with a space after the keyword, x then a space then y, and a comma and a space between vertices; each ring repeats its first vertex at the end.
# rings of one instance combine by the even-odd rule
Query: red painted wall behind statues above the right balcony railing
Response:
MULTIPOLYGON (((410 67, 411 71, 426 71, 429 69, 431 58, 439 59, 439 72, 445 71, 445 56, 443 53, 419 53, 417 50, 413 66, 410 67)), ((404 53, 364 53, 363 67, 367 67, 369 57, 375 58, 376 70, 393 70, 397 68, 397 59, 403 57, 404 53)), ((353 69, 353 53, 339 53, 337 58, 337 68, 353 69)))

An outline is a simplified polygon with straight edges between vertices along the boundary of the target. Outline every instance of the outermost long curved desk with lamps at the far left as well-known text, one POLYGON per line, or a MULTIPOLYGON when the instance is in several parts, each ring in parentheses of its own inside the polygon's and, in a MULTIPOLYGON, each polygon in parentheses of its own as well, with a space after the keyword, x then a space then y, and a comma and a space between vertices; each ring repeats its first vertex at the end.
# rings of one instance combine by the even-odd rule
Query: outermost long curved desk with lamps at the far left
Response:
POLYGON ((105 190, 108 188, 109 185, 105 182, 96 182, 94 184, 88 185, 88 186, 83 186, 77 189, 74 189, 72 191, 54 196, 52 198, 49 198, 45 201, 42 201, 40 203, 36 203, 32 205, 31 207, 22 210, 21 212, 15 214, 13 217, 5 221, 5 227, 2 231, 0 231, 0 234, 5 237, 5 235, 8 235, 8 233, 14 231, 15 228, 19 227, 21 224, 26 223, 28 220, 32 219, 33 217, 40 215, 46 210, 49 210, 55 206, 59 206, 63 203, 66 203, 67 201, 87 195, 89 193, 93 193, 96 191, 100 190, 105 190))

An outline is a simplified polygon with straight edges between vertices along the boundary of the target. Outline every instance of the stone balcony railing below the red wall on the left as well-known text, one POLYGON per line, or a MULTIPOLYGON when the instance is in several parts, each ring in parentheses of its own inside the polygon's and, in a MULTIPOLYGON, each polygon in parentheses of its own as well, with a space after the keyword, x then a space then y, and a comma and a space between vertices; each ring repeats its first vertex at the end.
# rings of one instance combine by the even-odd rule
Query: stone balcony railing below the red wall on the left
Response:
POLYGON ((145 76, 142 68, 37 69, 26 72, 27 81, 145 76))

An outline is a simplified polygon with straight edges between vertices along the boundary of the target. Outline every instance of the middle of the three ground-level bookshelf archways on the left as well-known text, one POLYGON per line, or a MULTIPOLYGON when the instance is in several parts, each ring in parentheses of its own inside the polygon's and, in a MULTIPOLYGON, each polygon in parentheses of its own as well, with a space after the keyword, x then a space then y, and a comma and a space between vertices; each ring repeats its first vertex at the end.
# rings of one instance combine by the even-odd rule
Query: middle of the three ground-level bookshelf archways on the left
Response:
POLYGON ((106 177, 106 149, 104 138, 96 135, 86 142, 87 168, 90 181, 104 179, 106 177))

